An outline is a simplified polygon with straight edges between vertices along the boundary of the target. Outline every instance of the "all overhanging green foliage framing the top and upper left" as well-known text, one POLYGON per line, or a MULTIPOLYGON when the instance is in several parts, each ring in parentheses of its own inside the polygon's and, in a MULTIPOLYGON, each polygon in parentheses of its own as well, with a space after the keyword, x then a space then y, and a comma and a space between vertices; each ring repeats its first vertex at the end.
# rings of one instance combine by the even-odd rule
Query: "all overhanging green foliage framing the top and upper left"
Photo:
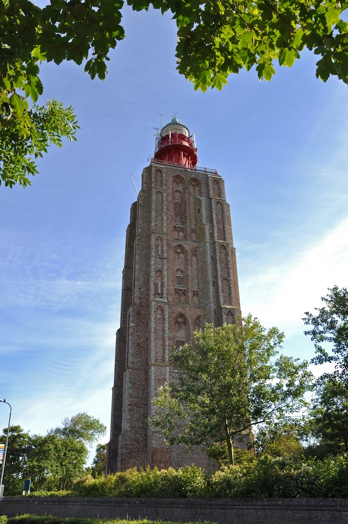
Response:
MULTIPOLYGON (((104 79, 109 52, 125 37, 122 0, 0 0, 0 183, 30 184, 35 160, 50 143, 75 139, 71 107, 33 106, 43 92, 40 63, 73 60, 104 79)), ((255 66, 270 80, 274 64, 291 67, 304 48, 318 55, 317 77, 348 83, 348 23, 337 0, 128 0, 170 11, 178 28, 177 69, 194 89, 222 89, 230 73, 255 66)))

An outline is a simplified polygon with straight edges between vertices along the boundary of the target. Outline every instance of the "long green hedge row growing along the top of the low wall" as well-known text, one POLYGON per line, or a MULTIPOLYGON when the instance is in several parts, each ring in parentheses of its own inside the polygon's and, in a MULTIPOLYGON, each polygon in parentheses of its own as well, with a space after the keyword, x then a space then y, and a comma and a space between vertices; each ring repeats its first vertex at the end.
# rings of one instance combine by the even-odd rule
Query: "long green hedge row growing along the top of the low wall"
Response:
MULTIPOLYGON (((59 495, 36 492, 32 495, 59 495)), ((348 497, 348 453, 293 463, 263 455, 205 475, 191 466, 178 470, 136 468, 74 483, 64 495, 85 497, 348 497)))

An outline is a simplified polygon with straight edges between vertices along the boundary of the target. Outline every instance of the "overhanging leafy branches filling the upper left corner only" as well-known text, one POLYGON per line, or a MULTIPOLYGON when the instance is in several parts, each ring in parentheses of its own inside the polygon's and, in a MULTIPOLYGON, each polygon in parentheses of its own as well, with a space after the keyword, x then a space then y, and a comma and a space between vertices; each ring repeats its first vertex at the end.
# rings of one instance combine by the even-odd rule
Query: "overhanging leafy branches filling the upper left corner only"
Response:
POLYGON ((51 0, 40 8, 29 0, 0 0, 0 183, 30 184, 35 160, 62 137, 75 140, 78 128, 71 107, 53 100, 46 107, 39 65, 73 60, 94 78, 105 78, 110 48, 124 37, 120 0, 51 0))

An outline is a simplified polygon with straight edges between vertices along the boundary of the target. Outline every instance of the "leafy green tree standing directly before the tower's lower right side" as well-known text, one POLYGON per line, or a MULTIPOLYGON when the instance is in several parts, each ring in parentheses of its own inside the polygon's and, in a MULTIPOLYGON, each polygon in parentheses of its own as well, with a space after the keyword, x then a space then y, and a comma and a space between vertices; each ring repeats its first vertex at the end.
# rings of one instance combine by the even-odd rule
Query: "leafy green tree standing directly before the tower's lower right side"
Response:
POLYGON ((158 389, 150 423, 168 444, 206 449, 226 442, 233 464, 233 443, 251 435, 252 426, 287 420, 306 405, 308 364, 278 355, 283 339, 277 328, 267 331, 251 315, 241 325, 206 324, 194 334, 194 349, 173 348, 178 382, 158 389))

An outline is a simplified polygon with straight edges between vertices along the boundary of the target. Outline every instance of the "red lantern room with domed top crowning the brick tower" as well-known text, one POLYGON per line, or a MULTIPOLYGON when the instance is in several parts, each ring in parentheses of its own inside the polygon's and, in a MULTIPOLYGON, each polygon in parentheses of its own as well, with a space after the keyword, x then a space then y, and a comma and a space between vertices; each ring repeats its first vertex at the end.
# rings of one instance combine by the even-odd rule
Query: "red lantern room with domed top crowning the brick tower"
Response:
POLYGON ((192 169, 197 164, 194 135, 174 117, 156 137, 155 160, 192 169))

